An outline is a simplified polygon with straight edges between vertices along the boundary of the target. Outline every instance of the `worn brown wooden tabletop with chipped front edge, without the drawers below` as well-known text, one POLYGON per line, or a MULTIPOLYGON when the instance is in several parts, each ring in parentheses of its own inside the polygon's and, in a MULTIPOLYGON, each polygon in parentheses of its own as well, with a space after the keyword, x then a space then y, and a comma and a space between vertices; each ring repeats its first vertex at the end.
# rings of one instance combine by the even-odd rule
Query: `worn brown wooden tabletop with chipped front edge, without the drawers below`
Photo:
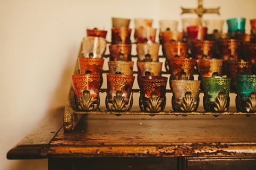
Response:
POLYGON ((256 116, 88 115, 69 133, 54 122, 62 116, 46 119, 7 157, 256 156, 256 116))

